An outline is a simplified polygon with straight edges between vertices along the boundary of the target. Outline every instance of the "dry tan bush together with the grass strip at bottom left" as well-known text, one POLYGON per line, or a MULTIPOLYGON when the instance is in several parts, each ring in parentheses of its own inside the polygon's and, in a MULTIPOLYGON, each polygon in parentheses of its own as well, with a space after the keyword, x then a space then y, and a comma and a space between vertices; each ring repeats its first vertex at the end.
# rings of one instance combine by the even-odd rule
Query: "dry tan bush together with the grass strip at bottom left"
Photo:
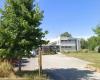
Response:
POLYGON ((12 65, 4 61, 0 62, 0 80, 3 78, 6 80, 47 80, 48 77, 45 74, 39 76, 38 70, 15 72, 12 65))

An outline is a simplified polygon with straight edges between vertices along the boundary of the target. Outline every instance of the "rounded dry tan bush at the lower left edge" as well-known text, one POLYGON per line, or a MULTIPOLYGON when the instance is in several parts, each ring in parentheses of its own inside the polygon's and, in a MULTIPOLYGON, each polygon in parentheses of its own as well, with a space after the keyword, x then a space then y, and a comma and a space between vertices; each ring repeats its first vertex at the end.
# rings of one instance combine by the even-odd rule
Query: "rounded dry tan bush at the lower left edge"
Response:
POLYGON ((0 77, 9 77, 12 73, 13 67, 9 62, 0 62, 0 77))

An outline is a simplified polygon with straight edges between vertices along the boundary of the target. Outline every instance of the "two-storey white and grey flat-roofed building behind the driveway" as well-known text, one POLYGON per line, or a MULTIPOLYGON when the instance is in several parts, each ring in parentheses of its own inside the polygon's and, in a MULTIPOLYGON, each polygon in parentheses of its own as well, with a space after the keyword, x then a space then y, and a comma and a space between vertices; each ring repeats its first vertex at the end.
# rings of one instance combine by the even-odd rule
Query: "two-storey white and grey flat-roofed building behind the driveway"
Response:
POLYGON ((72 37, 58 37, 56 41, 51 43, 51 46, 56 47, 57 51, 79 51, 80 39, 72 37), (54 43, 54 44, 53 44, 54 43))

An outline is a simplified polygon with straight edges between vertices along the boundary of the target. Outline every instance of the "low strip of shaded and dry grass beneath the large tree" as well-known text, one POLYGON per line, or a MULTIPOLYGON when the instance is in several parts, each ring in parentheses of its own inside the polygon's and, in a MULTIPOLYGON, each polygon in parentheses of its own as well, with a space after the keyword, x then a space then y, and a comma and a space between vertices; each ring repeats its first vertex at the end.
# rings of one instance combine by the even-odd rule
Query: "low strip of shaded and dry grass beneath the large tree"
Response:
POLYGON ((21 71, 15 72, 11 77, 1 77, 0 80, 48 80, 46 75, 39 76, 38 70, 36 71, 21 71))

